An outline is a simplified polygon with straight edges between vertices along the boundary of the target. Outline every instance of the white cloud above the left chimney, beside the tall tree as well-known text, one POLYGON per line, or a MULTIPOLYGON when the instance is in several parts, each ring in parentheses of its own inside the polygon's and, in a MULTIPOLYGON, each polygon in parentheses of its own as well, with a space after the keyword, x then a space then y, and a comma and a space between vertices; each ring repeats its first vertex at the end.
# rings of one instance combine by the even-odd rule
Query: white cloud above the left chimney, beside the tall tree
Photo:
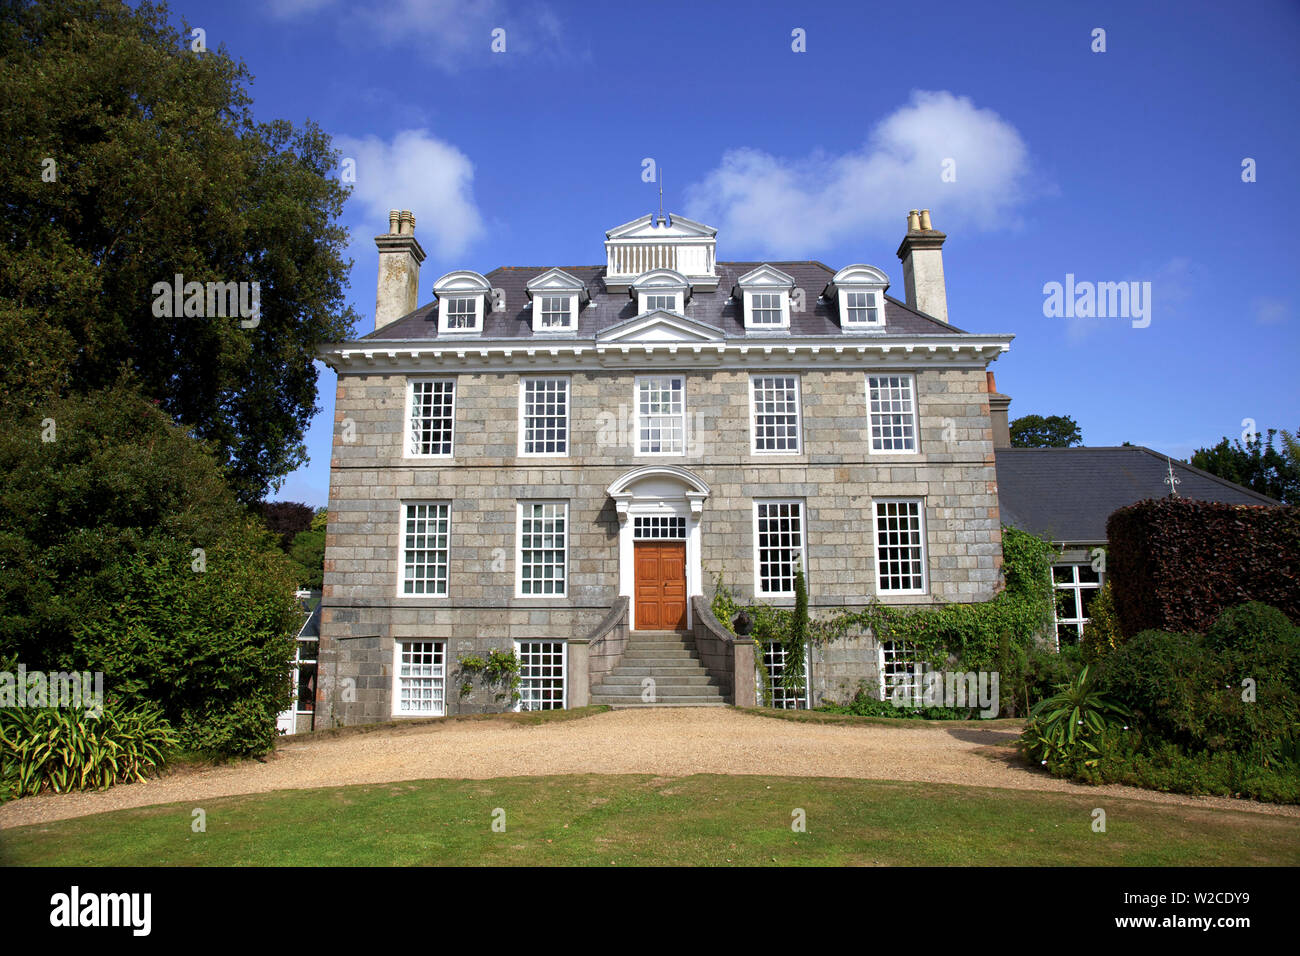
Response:
POLYGON ((460 150, 428 130, 378 137, 334 137, 343 159, 356 160, 348 219, 360 234, 385 233, 389 209, 411 209, 416 237, 436 259, 454 259, 484 235, 474 204, 474 166, 460 150))

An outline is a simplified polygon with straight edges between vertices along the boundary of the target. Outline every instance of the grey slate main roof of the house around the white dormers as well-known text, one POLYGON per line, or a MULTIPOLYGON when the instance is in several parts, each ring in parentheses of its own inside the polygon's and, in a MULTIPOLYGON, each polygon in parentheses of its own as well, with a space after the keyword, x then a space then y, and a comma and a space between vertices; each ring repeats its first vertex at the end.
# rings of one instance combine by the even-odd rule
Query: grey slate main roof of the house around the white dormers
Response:
MULTIPOLYGON (((792 336, 840 336, 838 308, 835 302, 820 300, 818 297, 826 289, 827 282, 835 276, 835 269, 818 261, 801 263, 767 263, 790 278, 794 285, 803 290, 806 308, 802 312, 790 313, 792 336)), ((745 334, 762 334, 770 337, 783 334, 768 329, 760 333, 745 329, 742 306, 731 297, 731 290, 736 280, 763 263, 718 263, 718 289, 706 293, 692 294, 686 303, 686 317, 706 323, 722 329, 728 338, 744 337, 745 334)), ((506 311, 488 312, 484 316, 482 336, 480 338, 593 338, 597 332, 616 325, 620 321, 637 315, 637 300, 628 293, 610 293, 604 289, 603 265, 575 265, 560 267, 564 272, 581 280, 586 285, 592 297, 592 306, 578 313, 577 333, 543 333, 534 336, 532 300, 528 298, 525 286, 529 280, 549 272, 552 267, 502 267, 489 272, 485 278, 493 289, 500 289, 506 294, 506 311)), ((879 332, 850 332, 850 336, 907 336, 907 334, 963 334, 948 323, 933 319, 923 312, 918 312, 898 299, 885 295, 885 328, 879 332)), ((490 303, 489 303, 490 304, 490 303)), ((382 329, 363 336, 361 341, 377 339, 426 339, 438 338, 438 311, 436 303, 429 302, 415 312, 398 319, 382 329)), ((451 338, 450 336, 447 338, 451 338)), ((455 336, 458 341, 464 341, 464 334, 455 336)))

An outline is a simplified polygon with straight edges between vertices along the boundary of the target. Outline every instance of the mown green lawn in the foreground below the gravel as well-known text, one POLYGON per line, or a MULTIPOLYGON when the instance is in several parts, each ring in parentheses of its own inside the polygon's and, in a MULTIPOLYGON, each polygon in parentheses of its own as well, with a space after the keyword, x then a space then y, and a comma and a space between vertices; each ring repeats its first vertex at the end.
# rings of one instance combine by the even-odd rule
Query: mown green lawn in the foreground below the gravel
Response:
POLYGON ((840 778, 533 777, 281 791, 0 831, 8 865, 1300 864, 1287 817, 840 778), (1092 831, 1093 808, 1106 832, 1092 831), (502 808, 504 832, 491 829, 502 808), (790 829, 806 812, 807 831, 790 829))

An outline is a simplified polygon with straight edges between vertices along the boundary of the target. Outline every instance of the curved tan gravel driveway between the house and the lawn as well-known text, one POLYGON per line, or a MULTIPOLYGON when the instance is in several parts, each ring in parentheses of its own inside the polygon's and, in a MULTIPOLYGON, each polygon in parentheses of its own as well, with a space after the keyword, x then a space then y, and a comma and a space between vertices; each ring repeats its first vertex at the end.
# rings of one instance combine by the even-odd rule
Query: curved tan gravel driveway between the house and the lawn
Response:
POLYGON ((303 737, 281 744, 265 762, 182 770, 92 793, 16 800, 0 805, 0 829, 270 790, 547 774, 774 774, 927 780, 1300 816, 1296 806, 1067 783, 1019 763, 1014 740, 1014 730, 1006 728, 800 723, 731 708, 614 710, 534 726, 448 721, 316 740, 303 737))

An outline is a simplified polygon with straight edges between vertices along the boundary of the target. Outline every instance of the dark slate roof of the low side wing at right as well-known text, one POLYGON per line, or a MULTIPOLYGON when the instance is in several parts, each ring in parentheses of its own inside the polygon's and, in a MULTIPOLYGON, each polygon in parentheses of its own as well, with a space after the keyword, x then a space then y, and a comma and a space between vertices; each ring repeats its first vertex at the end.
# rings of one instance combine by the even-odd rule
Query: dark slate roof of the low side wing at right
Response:
MULTIPOLYGON (((1106 519, 1126 505, 1169 494, 1165 455, 1140 445, 997 449, 1002 522, 1053 541, 1102 544, 1106 519)), ((1174 460, 1179 496, 1227 505, 1277 505, 1273 498, 1174 460)))

